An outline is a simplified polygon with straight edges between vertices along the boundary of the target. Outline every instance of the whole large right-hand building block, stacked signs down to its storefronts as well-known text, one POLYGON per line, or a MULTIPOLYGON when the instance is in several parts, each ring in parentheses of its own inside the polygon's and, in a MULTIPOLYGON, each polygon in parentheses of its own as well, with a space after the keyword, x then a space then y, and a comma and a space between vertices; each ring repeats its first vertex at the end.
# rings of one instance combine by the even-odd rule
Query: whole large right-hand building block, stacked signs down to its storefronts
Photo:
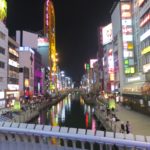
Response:
MULTIPOLYGON (((121 0, 112 12, 114 67, 126 105, 150 114, 150 1, 121 0)), ((116 78, 116 77, 115 77, 116 78)))

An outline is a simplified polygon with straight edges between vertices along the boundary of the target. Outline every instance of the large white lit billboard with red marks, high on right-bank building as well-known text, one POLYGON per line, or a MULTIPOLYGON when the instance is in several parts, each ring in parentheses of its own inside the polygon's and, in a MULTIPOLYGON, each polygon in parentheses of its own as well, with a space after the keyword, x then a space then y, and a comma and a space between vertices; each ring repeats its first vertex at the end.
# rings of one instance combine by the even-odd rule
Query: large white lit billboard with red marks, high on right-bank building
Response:
POLYGON ((102 28, 103 45, 112 42, 112 23, 102 28))

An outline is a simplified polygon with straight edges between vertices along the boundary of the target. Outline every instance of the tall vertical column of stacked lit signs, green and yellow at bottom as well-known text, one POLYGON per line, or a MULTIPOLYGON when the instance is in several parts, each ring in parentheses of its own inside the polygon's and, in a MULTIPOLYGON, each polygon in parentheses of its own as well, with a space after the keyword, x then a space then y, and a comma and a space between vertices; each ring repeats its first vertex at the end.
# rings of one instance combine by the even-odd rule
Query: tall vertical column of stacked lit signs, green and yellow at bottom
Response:
POLYGON ((121 2, 122 42, 125 74, 135 73, 131 2, 121 2), (128 62, 128 63, 127 63, 128 62))

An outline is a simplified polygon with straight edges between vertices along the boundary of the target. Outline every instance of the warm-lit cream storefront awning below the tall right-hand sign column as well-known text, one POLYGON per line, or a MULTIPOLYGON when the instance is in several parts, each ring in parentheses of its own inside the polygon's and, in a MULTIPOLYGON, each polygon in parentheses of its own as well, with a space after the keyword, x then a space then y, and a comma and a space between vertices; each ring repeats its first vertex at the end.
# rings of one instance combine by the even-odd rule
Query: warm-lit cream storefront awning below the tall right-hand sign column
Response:
POLYGON ((123 94, 142 95, 143 94, 143 86, 144 85, 145 85, 145 82, 126 84, 122 88, 122 93, 123 94))

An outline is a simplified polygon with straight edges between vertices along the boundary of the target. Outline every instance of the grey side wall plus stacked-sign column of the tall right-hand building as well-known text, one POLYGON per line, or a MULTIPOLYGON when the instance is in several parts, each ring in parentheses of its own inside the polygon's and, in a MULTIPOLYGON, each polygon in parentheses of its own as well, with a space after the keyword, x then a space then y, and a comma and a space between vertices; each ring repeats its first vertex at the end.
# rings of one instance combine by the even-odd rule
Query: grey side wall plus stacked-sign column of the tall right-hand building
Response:
POLYGON ((115 4, 111 15, 113 31, 114 78, 116 88, 123 92, 127 78, 134 76, 135 49, 133 40, 132 3, 130 0, 115 4))

